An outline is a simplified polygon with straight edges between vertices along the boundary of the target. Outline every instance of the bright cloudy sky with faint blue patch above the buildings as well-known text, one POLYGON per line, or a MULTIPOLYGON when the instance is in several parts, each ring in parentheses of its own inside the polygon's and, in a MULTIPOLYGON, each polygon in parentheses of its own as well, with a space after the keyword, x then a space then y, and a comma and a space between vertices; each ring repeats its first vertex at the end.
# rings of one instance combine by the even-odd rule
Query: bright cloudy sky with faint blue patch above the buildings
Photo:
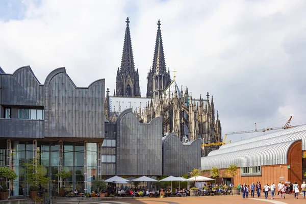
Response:
MULTIPOLYGON (((130 18, 141 95, 161 20, 166 66, 193 97, 214 96, 227 132, 306 123, 306 1, 0 1, 0 66, 30 65, 43 83, 66 67, 111 93, 130 18), (272 121, 270 121, 272 120, 272 121), (269 122, 263 122, 269 121, 269 122), (276 124, 274 124, 276 123, 276 124)), ((253 134, 229 135, 240 140, 253 134)))

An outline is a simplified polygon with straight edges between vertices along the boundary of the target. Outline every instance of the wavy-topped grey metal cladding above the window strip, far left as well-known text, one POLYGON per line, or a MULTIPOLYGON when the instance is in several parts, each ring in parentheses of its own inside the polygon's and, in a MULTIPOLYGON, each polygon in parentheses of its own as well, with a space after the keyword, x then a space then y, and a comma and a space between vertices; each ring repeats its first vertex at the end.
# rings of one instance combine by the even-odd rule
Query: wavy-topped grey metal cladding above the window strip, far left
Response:
POLYGON ((30 66, 17 69, 13 74, 2 74, 2 105, 43 106, 43 85, 30 66))

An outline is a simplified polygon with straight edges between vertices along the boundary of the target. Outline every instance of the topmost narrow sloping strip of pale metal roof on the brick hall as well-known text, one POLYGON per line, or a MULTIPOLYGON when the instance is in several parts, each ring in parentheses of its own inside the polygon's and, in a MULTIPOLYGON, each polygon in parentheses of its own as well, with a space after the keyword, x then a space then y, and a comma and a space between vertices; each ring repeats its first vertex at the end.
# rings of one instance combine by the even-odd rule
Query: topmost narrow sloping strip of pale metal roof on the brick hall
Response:
POLYGON ((268 134, 260 135, 260 136, 257 136, 257 137, 252 137, 252 138, 248 138, 248 139, 245 139, 245 140, 233 142, 233 143, 228 143, 228 144, 220 146, 219 149, 238 146, 238 145, 242 145, 242 144, 246 144, 246 143, 250 143, 250 142, 256 142, 256 141, 264 140, 264 139, 267 139, 267 138, 278 137, 278 136, 282 136, 282 135, 288 135, 288 134, 291 134, 291 133, 296 133, 296 132, 301 132, 301 131, 306 131, 306 124, 295 126, 295 127, 290 127, 289 129, 277 131, 277 132, 274 132, 274 133, 268 133, 268 134))

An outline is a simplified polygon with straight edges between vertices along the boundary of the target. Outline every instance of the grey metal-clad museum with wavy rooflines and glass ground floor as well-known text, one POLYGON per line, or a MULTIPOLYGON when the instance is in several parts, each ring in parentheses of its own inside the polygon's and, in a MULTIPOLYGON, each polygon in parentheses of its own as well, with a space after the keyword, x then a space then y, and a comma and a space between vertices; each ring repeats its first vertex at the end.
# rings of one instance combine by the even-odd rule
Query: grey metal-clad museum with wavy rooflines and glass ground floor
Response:
POLYGON ((183 175, 200 167, 200 139, 182 143, 163 137, 162 117, 140 123, 132 109, 114 123, 105 120, 105 80, 77 87, 65 68, 40 84, 30 66, 7 74, 0 67, 0 166, 15 170, 11 196, 29 193, 25 163, 39 157, 50 183, 68 170, 66 190, 91 192, 97 177, 183 175), (170 168, 171 167, 171 168, 170 168))

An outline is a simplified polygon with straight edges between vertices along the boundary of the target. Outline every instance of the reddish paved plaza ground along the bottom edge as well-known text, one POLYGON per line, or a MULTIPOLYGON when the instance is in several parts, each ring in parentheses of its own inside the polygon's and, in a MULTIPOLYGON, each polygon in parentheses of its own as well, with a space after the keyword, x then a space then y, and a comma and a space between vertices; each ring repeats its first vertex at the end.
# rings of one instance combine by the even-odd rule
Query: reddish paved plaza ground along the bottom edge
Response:
POLYGON ((306 203, 306 199, 303 199, 302 196, 299 199, 295 199, 294 195, 286 196, 286 199, 281 199, 279 196, 276 196, 274 200, 262 198, 242 198, 242 196, 204 196, 204 197, 170 197, 170 198, 136 198, 136 199, 122 199, 122 200, 82 200, 82 201, 63 201, 59 200, 57 204, 87 204, 87 203, 104 203, 104 204, 201 204, 201 203, 306 203))

